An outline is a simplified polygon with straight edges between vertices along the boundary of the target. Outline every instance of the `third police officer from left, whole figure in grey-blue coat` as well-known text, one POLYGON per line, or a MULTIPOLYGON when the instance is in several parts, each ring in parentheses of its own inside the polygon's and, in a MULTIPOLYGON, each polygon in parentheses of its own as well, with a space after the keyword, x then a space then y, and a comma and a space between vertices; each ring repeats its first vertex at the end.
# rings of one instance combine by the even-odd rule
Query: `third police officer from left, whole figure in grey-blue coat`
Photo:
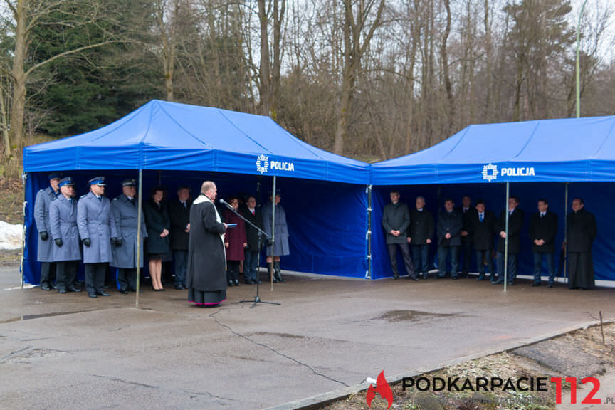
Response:
POLYGON ((77 204, 77 226, 83 241, 85 286, 88 296, 109 296, 103 290, 107 264, 112 261, 111 245, 118 243, 111 201, 105 196, 105 177, 88 181, 90 192, 81 196, 77 204))

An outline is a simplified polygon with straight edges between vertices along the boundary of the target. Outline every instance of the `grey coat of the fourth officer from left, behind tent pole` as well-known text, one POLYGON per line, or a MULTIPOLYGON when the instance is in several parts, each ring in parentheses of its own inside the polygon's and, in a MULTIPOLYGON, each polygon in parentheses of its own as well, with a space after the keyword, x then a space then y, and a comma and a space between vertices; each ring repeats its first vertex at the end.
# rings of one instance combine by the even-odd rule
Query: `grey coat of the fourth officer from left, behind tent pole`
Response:
MULTIPOLYGON (((117 237, 122 239, 122 246, 111 246, 113 261, 111 266, 115 268, 132 269, 137 267, 137 199, 134 204, 125 194, 116 196, 111 201, 111 213, 115 221, 117 237)), ((141 211, 141 238, 139 266, 143 267, 143 238, 147 238, 145 216, 141 211)))

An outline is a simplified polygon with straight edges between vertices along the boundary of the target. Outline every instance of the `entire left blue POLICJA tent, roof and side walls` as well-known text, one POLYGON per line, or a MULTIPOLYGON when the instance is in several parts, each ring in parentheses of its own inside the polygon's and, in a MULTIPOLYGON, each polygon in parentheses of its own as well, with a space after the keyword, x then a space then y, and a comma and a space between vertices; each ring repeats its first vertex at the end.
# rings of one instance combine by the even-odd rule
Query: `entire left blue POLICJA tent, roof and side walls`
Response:
POLYGON ((27 147, 23 169, 28 283, 40 277, 33 199, 52 171, 75 177, 80 194, 89 178, 104 174, 113 197, 121 179, 142 170, 144 189, 163 184, 171 198, 179 185, 198 192, 204 179, 214 179, 222 197, 258 190, 261 203, 272 187, 268 177, 281 177, 292 233, 283 268, 365 275, 369 165, 312 147, 269 117, 152 100, 98 130, 27 147))

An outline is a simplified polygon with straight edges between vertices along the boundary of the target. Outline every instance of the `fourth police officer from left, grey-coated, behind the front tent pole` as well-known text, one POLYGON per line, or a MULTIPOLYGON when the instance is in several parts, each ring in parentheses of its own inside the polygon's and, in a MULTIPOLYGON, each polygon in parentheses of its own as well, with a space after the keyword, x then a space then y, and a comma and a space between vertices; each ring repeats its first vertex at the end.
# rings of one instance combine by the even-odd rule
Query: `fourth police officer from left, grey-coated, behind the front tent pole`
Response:
MULTIPOLYGON (((117 283, 120 293, 137 290, 137 219, 139 204, 135 199, 137 181, 129 178, 122 181, 122 194, 111 201, 111 212, 115 221, 117 241, 112 246, 111 266, 118 268, 117 283)), ((145 217, 141 213, 141 238, 139 266, 143 267, 143 238, 147 238, 145 217)))

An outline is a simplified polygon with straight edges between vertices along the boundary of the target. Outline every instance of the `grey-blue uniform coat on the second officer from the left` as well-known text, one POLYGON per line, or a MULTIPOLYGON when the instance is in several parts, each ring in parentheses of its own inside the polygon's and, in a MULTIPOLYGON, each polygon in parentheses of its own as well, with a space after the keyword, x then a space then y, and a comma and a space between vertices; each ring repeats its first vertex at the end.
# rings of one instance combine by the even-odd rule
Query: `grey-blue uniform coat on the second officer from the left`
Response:
POLYGON ((77 200, 66 199, 60 195, 49 204, 49 225, 51 232, 48 241, 53 244, 53 261, 79 261, 79 231, 77 228, 77 200), (62 240, 62 246, 56 245, 62 240))

